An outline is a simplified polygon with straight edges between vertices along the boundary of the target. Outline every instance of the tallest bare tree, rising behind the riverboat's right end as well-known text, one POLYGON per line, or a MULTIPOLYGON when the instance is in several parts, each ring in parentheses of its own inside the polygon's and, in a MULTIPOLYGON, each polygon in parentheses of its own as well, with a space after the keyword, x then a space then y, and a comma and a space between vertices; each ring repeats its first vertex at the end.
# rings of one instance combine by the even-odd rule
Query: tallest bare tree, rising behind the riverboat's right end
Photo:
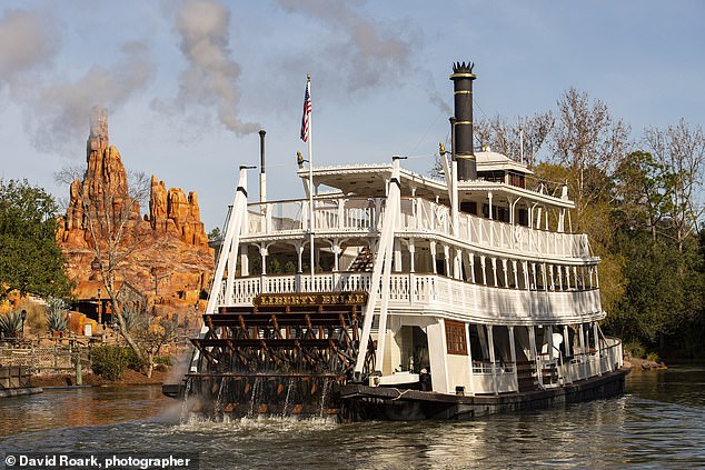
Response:
POLYGON ((557 101, 558 117, 553 132, 553 160, 572 173, 578 218, 595 199, 608 193, 610 174, 629 147, 629 128, 613 119, 600 100, 589 102, 587 92, 568 89, 557 101))

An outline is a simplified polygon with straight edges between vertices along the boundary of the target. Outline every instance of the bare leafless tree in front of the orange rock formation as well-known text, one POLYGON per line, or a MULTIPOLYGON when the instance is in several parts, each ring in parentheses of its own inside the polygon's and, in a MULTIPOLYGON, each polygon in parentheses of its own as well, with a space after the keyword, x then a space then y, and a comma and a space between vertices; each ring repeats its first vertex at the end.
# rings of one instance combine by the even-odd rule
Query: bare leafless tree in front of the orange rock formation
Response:
POLYGON ((91 166, 80 179, 80 170, 66 168, 56 174, 62 183, 71 184, 69 211, 78 213, 80 226, 88 234, 88 247, 96 256, 92 267, 98 269, 106 293, 110 298, 112 313, 120 334, 141 359, 146 354, 133 339, 118 297, 117 278, 132 256, 146 246, 147 231, 140 231, 140 202, 147 200, 150 181, 141 172, 99 171, 102 166, 91 166))

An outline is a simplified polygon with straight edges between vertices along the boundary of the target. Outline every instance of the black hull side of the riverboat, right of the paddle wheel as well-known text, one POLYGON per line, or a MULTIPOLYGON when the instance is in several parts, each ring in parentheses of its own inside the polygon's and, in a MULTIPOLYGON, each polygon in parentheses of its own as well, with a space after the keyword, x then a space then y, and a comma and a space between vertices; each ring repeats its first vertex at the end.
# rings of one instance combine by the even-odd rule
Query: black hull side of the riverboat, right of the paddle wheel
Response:
POLYGON ((565 387, 499 396, 450 396, 361 384, 339 390, 344 421, 467 420, 475 417, 549 408, 624 393, 629 369, 619 369, 565 387))

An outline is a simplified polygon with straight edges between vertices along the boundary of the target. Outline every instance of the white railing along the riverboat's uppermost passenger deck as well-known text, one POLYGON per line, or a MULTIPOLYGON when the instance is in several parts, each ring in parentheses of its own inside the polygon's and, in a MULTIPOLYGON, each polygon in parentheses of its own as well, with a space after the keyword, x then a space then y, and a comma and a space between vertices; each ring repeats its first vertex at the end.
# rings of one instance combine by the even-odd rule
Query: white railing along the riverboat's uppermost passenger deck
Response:
MULTIPOLYGON (((316 231, 377 231, 384 202, 384 198, 317 200, 314 209, 316 231)), ((249 236, 300 232, 308 229, 308 220, 307 200, 250 204, 247 229, 249 236)), ((404 198, 397 232, 430 232, 453 237, 450 208, 421 198, 404 198)), ((587 236, 584 233, 529 229, 468 213, 459 216, 458 238, 468 243, 524 253, 590 257, 587 236)))

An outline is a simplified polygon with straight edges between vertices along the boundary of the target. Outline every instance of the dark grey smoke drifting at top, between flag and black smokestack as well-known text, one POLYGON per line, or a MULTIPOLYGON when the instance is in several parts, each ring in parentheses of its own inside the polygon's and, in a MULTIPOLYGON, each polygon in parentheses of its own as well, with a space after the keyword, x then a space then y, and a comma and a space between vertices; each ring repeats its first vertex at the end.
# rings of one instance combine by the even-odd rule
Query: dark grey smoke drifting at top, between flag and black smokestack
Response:
POLYGON ((351 2, 331 6, 327 0, 277 0, 277 3, 286 12, 305 14, 331 29, 332 43, 307 54, 307 60, 317 57, 335 64, 339 71, 336 78, 348 91, 389 84, 408 73, 414 40, 401 24, 376 21, 354 10, 351 2))

